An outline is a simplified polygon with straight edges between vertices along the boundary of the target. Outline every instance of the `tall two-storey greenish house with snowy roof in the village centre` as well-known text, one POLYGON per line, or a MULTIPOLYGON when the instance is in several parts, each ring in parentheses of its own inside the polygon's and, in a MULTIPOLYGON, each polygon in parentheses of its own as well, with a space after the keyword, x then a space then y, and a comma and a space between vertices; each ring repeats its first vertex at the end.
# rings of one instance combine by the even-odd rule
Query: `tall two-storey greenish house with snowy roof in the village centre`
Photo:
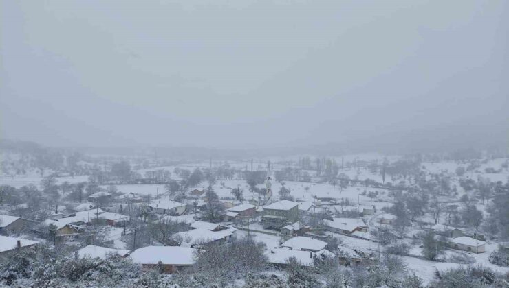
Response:
POLYGON ((299 221, 299 203, 281 200, 263 207, 261 221, 264 228, 280 229, 299 221))

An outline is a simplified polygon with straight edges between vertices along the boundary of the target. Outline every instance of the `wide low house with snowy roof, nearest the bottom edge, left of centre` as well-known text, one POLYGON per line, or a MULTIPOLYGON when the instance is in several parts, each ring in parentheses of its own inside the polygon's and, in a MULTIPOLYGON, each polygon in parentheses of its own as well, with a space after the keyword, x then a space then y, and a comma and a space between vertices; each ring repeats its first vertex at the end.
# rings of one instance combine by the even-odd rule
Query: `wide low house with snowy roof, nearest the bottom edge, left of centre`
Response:
POLYGON ((164 273, 172 274, 193 266, 195 249, 178 246, 148 246, 131 253, 133 263, 142 265, 143 271, 149 271, 162 263, 164 273))

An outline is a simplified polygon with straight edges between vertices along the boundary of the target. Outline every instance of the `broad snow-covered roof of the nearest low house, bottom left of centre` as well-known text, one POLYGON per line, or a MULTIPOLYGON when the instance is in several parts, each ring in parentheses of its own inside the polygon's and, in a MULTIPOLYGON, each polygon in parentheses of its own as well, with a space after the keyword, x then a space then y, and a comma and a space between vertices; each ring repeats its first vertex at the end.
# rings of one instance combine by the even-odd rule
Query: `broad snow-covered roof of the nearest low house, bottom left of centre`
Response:
POLYGON ((193 265, 195 250, 178 246, 148 246, 139 248, 131 253, 133 263, 171 265, 193 265))

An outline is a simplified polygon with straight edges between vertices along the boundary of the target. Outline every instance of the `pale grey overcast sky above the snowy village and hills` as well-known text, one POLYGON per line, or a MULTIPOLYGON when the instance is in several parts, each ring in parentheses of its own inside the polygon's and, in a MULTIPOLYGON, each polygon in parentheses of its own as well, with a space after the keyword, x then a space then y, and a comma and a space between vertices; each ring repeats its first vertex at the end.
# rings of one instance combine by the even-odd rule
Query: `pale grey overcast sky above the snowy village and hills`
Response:
POLYGON ((435 132, 440 141, 509 139, 509 1, 0 5, 8 139, 205 147, 435 132))

